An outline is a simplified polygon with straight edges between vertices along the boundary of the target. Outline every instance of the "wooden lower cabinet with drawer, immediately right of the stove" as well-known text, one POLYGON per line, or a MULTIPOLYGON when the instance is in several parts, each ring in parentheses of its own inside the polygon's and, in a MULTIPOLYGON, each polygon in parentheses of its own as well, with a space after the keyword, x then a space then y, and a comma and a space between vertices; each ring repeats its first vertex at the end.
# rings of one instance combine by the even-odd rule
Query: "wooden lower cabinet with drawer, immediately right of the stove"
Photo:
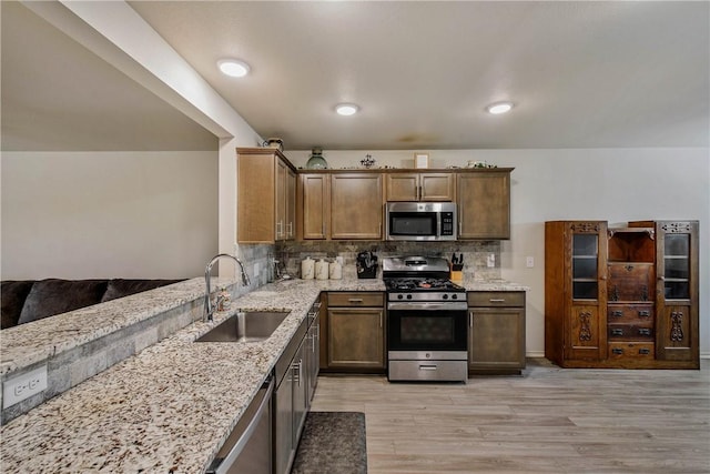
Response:
POLYGON ((525 369, 525 292, 468 293, 468 373, 525 369))

